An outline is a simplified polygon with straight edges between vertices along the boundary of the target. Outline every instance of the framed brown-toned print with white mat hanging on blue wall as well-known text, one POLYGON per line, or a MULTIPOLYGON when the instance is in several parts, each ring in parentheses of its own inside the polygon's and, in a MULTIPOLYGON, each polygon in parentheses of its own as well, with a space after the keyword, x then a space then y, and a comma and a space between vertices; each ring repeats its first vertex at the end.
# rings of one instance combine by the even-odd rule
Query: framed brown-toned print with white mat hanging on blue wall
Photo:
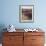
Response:
POLYGON ((34 5, 20 5, 19 21, 33 22, 34 21, 34 5))

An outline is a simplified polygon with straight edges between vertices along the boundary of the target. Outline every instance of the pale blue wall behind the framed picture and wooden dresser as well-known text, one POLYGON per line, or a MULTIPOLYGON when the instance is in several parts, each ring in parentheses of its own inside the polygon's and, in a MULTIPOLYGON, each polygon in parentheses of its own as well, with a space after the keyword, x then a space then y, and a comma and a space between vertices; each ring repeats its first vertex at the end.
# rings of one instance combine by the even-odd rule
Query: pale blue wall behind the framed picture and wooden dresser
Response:
POLYGON ((0 25, 13 24, 16 28, 46 28, 46 1, 44 0, 0 0, 0 25), (34 23, 19 22, 19 5, 34 5, 34 23))

